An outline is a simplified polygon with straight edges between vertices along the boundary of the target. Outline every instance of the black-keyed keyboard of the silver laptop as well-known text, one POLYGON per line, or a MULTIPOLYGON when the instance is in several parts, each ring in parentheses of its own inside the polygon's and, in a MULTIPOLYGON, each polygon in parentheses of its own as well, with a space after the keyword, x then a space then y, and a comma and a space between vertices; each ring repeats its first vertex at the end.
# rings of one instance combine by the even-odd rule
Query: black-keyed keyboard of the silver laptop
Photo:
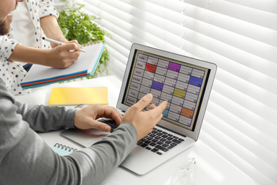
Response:
MULTIPOLYGON (((99 121, 104 122, 110 127, 112 127, 111 132, 114 132, 114 129, 119 127, 119 125, 117 125, 114 120, 102 118, 99 121)), ((164 129, 158 129, 155 127, 153 128, 153 131, 150 134, 148 134, 148 136, 139 140, 139 142, 137 142, 136 144, 145 149, 148 149, 153 153, 162 155, 182 142, 185 142, 185 139, 170 134, 166 132, 164 129)))

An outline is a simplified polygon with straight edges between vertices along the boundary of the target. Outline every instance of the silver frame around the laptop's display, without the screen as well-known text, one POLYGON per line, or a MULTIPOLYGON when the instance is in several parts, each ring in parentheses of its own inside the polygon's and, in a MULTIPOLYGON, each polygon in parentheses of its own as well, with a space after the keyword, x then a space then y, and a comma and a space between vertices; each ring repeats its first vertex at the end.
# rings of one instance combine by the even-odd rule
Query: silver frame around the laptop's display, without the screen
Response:
POLYGON ((205 84, 205 92, 204 95, 202 95, 202 100, 201 100, 201 105, 199 107, 199 110, 197 112, 197 119, 195 120, 195 127, 193 130, 190 129, 186 129, 183 127, 180 127, 178 125, 174 125, 171 123, 168 123, 165 120, 161 120, 160 122, 158 122, 158 125, 161 127, 164 127, 165 129, 170 129, 173 132, 176 132, 178 134, 181 134, 183 136, 186 137, 190 137, 192 139, 195 139, 195 141, 197 140, 199 133, 200 133, 200 128, 202 126, 202 121, 204 119, 204 115, 205 115, 205 110, 207 107, 207 102, 209 100, 210 97, 210 92, 212 90, 212 83, 214 81, 214 77, 215 77, 215 73, 217 70, 217 65, 215 65, 214 63, 210 63, 204 60, 199 60, 196 58, 190 58, 188 56, 181 56, 179 54, 176 53, 170 53, 168 51, 162 51, 160 49, 157 48, 151 48, 148 46, 143 46, 141 44, 138 43, 133 43, 133 45, 131 46, 131 50, 129 53, 129 58, 128 58, 128 62, 126 65, 126 70, 124 73, 124 78, 122 80, 122 84, 121 84, 121 90, 119 93, 119 99, 117 101, 116 107, 119 110, 123 110, 126 111, 129 109, 129 106, 124 105, 123 104, 123 100, 124 100, 124 93, 125 93, 125 89, 126 89, 126 85, 128 83, 129 80, 129 75, 131 73, 131 67, 132 67, 132 63, 134 63, 134 57, 136 55, 136 51, 145 51, 147 53, 153 53, 154 55, 157 56, 162 56, 165 58, 170 58, 173 60, 178 60, 180 62, 184 62, 184 63, 189 63, 192 65, 197 65, 200 66, 202 68, 207 68, 209 69, 209 75, 207 76, 207 80, 206 80, 206 84, 205 84), (182 129, 181 129, 182 128, 182 129))

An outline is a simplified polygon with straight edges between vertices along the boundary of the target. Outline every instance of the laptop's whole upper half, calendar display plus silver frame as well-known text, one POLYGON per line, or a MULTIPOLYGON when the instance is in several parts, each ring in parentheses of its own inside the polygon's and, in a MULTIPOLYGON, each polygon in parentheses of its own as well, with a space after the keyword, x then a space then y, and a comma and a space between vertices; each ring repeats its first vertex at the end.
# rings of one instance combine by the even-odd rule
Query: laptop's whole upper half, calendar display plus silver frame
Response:
MULTIPOLYGON (((196 131, 197 137, 215 69, 212 63, 134 44, 121 87, 120 104, 131 107, 151 93, 151 104, 168 101, 161 126, 171 125, 170 129, 186 135, 196 131)), ((149 106, 145 109, 149 110, 149 106)))

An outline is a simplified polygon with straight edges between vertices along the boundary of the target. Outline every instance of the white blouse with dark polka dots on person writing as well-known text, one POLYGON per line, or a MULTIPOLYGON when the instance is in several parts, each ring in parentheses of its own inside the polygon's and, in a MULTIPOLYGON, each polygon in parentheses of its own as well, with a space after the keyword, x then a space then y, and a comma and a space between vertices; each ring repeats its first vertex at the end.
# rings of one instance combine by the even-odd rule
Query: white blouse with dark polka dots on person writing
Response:
MULTIPOLYGON (((53 0, 26 0, 29 13, 31 15, 35 32, 36 48, 50 48, 50 43, 43 41, 43 30, 40 28, 40 18, 44 16, 55 16, 59 14, 54 7, 53 0)), ((14 48, 20 44, 13 38, 13 29, 6 36, 0 36, 0 78, 6 83, 13 95, 22 95, 30 93, 30 90, 22 90, 20 83, 26 76, 27 72, 22 65, 17 62, 7 60, 11 56, 14 48)))

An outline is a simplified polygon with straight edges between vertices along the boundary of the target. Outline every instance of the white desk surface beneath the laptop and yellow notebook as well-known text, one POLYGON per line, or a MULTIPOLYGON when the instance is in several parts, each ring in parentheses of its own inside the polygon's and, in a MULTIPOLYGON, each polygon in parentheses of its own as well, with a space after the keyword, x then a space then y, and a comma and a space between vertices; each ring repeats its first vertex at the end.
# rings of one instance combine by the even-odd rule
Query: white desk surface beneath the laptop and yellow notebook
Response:
MULTIPOLYGON (((32 89, 31 95, 16 96, 19 102, 28 104, 47 105, 50 92, 53 87, 101 87, 107 86, 109 91, 109 105, 116 106, 116 101, 121 87, 121 81, 114 76, 107 76, 91 80, 77 80, 72 83, 53 84, 43 88, 32 89)), ((202 127, 205 127, 203 123, 202 127)), ((70 140, 60 136, 61 131, 42 133, 40 136, 48 145, 60 142, 62 144, 81 149, 82 147, 70 140)), ((193 147, 179 154, 174 159, 170 159, 156 169, 143 176, 136 175, 131 171, 119 166, 102 183, 106 184, 112 181, 121 185, 169 185, 171 176, 173 176, 177 166, 187 162, 188 159, 195 157, 196 181, 195 184, 256 184, 249 179, 242 171, 220 157, 216 151, 202 142, 202 134, 193 147)))

